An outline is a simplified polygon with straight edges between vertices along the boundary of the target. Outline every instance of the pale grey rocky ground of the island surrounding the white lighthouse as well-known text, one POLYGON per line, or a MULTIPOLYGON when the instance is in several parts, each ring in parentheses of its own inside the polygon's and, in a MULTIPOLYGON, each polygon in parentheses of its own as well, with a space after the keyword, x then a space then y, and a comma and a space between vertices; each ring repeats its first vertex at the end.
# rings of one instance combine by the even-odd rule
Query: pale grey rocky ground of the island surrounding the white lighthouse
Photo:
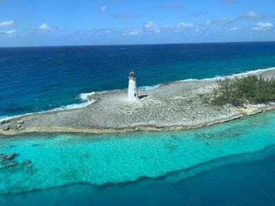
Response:
MULTIPOLYGON (((254 73, 275 76, 274 69, 254 73)), ((248 105, 243 108, 215 107, 203 103, 201 95, 215 87, 215 80, 191 80, 162 84, 139 91, 140 102, 126 99, 126 90, 95 93, 94 104, 67 111, 23 115, 0 122, 0 134, 20 133, 123 133, 136 130, 183 130, 228 122, 275 108, 248 105)))

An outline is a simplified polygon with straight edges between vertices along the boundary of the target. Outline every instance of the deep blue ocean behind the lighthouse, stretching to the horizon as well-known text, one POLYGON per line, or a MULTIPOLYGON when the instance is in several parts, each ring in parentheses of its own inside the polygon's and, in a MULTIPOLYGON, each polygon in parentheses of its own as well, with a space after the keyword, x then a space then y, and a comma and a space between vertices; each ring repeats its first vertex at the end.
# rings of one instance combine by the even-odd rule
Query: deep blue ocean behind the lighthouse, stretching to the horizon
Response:
POLYGON ((85 104, 81 93, 126 89, 132 70, 142 87, 269 67, 274 42, 0 48, 0 119, 76 107, 85 104))

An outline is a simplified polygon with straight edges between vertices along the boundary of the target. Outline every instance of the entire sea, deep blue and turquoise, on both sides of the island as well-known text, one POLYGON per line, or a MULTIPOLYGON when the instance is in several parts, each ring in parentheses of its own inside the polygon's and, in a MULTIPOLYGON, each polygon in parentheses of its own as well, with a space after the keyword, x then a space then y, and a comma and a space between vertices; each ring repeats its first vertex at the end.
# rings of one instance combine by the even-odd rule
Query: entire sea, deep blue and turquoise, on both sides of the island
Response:
MULTIPOLYGON (((275 43, 0 48, 0 117, 275 67, 275 43)), ((275 111, 176 132, 0 135, 0 205, 274 205, 275 111), (25 160, 32 163, 23 164, 25 160)))

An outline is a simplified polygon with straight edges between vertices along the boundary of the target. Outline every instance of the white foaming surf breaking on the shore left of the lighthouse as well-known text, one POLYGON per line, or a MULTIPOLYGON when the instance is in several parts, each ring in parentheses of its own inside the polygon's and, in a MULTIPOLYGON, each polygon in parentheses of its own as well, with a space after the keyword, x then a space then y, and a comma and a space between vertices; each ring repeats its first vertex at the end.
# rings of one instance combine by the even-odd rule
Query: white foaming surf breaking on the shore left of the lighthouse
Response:
POLYGON ((94 102, 96 102, 96 100, 91 101, 91 100, 88 99, 89 95, 94 95, 94 94, 95 94, 95 92, 80 93, 80 95, 78 95, 78 97, 76 99, 80 99, 83 102, 81 102, 79 104, 69 104, 69 105, 66 105, 66 106, 60 106, 58 108, 53 108, 53 109, 50 109, 50 110, 47 110, 47 111, 40 111, 40 112, 35 112, 35 113, 25 113, 23 115, 15 115, 15 116, 11 116, 11 117, 3 116, 3 117, 0 117, 0 122, 3 121, 3 120, 22 117, 22 116, 25 116, 25 115, 33 115, 33 114, 37 114, 37 113, 47 113, 47 112, 51 112, 51 111, 64 111, 64 110, 71 110, 71 109, 75 109, 75 108, 82 108, 82 107, 88 106, 88 105, 93 104, 94 102))

